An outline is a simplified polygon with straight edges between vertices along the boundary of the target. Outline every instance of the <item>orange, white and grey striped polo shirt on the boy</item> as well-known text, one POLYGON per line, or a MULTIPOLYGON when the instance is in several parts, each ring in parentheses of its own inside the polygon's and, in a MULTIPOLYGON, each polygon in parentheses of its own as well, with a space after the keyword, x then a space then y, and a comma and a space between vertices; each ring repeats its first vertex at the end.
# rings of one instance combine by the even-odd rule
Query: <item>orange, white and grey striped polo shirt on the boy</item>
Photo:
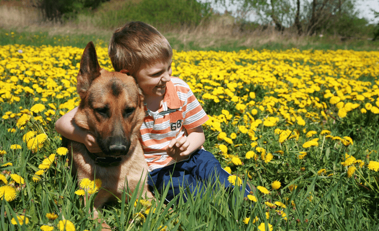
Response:
POLYGON ((186 129, 196 128, 208 120, 208 115, 189 86, 177 77, 171 77, 167 82, 158 111, 150 111, 146 106, 145 110, 140 142, 149 171, 175 163, 166 153, 170 141, 185 137, 186 129))

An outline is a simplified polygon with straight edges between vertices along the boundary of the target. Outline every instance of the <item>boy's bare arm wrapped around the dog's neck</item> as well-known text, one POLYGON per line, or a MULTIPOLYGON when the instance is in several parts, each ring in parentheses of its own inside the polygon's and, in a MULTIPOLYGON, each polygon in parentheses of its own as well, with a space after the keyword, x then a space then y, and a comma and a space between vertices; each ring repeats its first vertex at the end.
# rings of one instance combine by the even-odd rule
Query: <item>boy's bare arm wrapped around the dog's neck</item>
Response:
POLYGON ((55 129, 64 137, 79 143, 83 143, 89 152, 101 152, 102 150, 97 144, 96 138, 87 130, 79 128, 74 123, 74 115, 77 110, 78 107, 75 107, 59 118, 55 123, 55 129))

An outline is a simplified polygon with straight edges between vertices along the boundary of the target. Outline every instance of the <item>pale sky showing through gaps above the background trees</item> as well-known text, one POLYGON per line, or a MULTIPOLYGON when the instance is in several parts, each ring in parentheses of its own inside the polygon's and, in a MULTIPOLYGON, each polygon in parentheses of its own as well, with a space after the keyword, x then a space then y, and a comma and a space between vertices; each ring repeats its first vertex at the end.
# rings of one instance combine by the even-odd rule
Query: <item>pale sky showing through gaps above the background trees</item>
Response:
MULTIPOLYGON (((226 0, 228 1, 228 0, 226 0)), ((304 1, 304 0, 301 0, 304 1)), ((309 1, 309 0, 308 0, 309 1)), ((207 0, 200 0, 200 2, 209 2, 207 0)), ((214 10, 219 11, 223 13, 225 11, 224 7, 221 6, 212 6, 214 10)), ((228 7, 228 11, 234 11, 237 7, 231 6, 228 7)), ((357 10, 360 12, 360 17, 364 17, 368 20, 369 23, 376 24, 379 22, 379 18, 374 18, 374 14, 371 12, 370 9, 375 10, 376 12, 379 12, 379 0, 357 0, 357 10)))

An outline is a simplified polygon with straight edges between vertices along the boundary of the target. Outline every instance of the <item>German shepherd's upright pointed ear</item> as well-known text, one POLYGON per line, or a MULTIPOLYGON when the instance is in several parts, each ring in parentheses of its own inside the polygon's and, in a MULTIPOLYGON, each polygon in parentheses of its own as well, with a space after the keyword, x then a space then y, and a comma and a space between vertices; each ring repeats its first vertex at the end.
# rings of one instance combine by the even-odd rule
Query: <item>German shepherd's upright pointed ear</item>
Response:
POLYGON ((85 96, 92 81, 100 76, 100 70, 96 49, 94 48, 92 41, 88 42, 83 51, 83 55, 81 56, 80 70, 76 77, 78 81, 76 88, 80 98, 85 96))

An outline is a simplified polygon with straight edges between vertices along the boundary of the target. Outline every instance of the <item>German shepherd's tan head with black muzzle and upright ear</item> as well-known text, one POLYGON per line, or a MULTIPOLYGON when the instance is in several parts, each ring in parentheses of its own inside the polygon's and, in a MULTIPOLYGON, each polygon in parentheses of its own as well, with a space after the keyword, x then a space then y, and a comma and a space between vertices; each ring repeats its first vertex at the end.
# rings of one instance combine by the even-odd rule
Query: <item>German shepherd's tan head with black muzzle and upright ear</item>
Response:
POLYGON ((74 120, 97 137, 106 156, 126 155, 139 139, 144 96, 134 78, 101 69, 92 42, 84 49, 77 76, 81 101, 74 120))

